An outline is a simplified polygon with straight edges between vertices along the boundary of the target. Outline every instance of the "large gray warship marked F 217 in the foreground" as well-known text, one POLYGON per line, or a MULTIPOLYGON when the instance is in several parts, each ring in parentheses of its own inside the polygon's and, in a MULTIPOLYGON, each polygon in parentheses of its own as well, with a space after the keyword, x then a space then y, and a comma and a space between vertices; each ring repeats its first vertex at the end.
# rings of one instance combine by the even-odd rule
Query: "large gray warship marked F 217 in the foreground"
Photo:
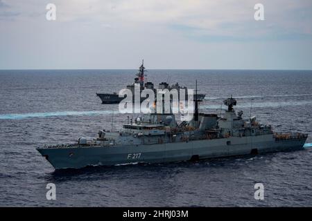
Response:
MULTIPOLYGON (((197 91, 197 90, 196 90, 197 91)), ((225 99, 222 116, 198 113, 177 123, 171 113, 150 113, 132 120, 120 131, 98 131, 98 137, 80 137, 76 144, 37 148, 55 169, 206 160, 214 157, 254 155, 303 148, 307 134, 275 133, 256 117, 243 118, 234 111, 236 99, 225 99)))

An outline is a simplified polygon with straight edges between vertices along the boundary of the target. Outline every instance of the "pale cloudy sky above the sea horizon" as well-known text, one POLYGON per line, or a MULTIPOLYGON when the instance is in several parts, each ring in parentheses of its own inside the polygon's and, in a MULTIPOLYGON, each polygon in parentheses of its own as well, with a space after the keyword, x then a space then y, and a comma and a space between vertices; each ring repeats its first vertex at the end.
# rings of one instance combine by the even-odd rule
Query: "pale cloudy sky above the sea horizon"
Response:
POLYGON ((312 70, 312 1, 0 0, 0 69, 132 69, 141 59, 148 69, 312 70))

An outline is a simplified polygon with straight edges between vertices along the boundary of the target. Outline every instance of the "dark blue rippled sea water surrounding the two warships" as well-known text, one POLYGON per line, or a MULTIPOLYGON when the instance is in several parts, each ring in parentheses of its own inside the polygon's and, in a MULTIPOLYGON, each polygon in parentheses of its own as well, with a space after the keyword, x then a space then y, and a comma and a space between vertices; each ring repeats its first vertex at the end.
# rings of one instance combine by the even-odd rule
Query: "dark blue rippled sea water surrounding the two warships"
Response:
MULTIPOLYGON (((94 137, 126 122, 96 92, 132 83, 136 70, 0 70, 0 206, 312 206, 312 148, 199 163, 95 167, 55 172, 35 148, 94 137), (57 200, 46 200, 46 184, 57 200), (261 182, 265 199, 254 200, 261 182)), ((309 133, 312 71, 149 70, 206 93, 202 111, 220 113, 229 95, 245 117, 276 131, 309 133), (169 76, 169 77, 168 77, 169 76)))

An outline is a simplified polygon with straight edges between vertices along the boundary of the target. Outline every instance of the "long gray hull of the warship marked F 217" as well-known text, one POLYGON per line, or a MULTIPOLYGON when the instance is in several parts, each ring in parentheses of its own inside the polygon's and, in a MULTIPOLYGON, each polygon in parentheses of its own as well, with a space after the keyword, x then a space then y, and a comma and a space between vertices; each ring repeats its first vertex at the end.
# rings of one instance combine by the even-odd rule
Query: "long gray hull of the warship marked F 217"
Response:
POLYGON ((79 169, 85 166, 180 162, 231 157, 252 153, 302 149, 306 138, 275 140, 272 135, 229 137, 153 145, 37 148, 55 169, 79 169))

